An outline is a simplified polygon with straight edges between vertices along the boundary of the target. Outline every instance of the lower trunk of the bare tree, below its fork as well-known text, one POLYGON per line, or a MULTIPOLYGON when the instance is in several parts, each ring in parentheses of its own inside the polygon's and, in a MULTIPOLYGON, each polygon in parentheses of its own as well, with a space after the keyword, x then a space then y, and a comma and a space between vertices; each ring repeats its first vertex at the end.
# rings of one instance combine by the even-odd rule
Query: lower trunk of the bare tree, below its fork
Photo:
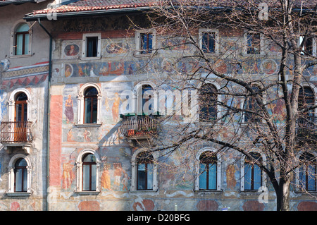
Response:
POLYGON ((280 186, 276 192, 276 210, 290 211, 290 178, 280 178, 280 186))

